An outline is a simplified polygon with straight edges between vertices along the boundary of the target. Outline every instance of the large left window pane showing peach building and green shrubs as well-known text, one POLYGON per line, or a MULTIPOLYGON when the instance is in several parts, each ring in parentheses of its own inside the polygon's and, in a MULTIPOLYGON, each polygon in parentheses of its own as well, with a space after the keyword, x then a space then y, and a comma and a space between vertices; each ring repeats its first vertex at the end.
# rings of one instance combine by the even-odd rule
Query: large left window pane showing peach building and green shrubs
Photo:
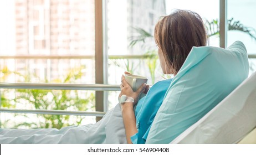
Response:
MULTIPOLYGON (((0 1, 0 82, 94 84, 94 8, 93 0, 0 1)), ((1 89, 0 103, 2 108, 95 111, 95 91, 1 89)), ((95 122, 84 118, 1 113, 1 127, 95 122)))

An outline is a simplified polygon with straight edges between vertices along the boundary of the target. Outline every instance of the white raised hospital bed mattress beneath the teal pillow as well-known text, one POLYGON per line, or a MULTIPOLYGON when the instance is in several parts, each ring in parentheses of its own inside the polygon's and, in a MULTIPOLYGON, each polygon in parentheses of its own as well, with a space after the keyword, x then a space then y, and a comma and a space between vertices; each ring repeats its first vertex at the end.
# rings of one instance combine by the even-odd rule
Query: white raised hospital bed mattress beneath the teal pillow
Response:
POLYGON ((255 127, 256 73, 171 143, 255 143, 255 127))

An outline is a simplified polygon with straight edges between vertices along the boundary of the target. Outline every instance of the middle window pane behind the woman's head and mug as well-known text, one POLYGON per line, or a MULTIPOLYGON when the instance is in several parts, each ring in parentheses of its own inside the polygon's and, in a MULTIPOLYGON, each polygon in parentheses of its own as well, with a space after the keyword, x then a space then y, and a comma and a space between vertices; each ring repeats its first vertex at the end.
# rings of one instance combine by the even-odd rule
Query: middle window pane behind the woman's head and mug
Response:
MULTIPOLYGON (((205 23, 212 23, 208 29, 218 30, 218 23, 214 23, 219 18, 218 1, 106 0, 109 84, 119 85, 124 71, 148 77, 150 85, 171 77, 162 73, 153 33, 158 19, 175 8, 197 12, 205 23)), ((209 45, 219 46, 219 36, 210 37, 209 45)), ((118 102, 118 95, 119 92, 109 92, 109 108, 118 102)))

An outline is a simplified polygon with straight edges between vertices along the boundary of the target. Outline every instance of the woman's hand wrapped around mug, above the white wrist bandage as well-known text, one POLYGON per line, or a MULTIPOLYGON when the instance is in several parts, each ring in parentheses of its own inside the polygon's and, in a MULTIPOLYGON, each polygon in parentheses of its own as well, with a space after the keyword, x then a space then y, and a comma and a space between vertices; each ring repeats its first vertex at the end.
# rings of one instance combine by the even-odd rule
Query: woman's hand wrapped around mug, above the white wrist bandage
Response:
POLYGON ((141 92, 144 92, 144 90, 145 90, 147 85, 146 84, 142 84, 137 91, 132 91, 131 86, 125 80, 125 76, 124 75, 122 75, 121 82, 122 82, 121 85, 120 85, 121 92, 119 94, 119 97, 121 97, 122 95, 126 95, 126 96, 129 96, 129 97, 132 97, 132 98, 134 98, 134 104, 133 105, 136 105, 137 102, 138 102, 138 99, 139 99, 139 96, 140 96, 141 92))

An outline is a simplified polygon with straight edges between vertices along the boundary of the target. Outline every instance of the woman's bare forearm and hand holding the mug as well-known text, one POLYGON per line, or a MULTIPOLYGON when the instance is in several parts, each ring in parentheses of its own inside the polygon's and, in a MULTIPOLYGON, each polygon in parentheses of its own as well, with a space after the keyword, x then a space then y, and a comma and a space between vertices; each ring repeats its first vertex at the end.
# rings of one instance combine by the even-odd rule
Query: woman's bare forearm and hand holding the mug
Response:
POLYGON ((122 75, 122 84, 121 84, 121 92, 119 94, 119 97, 122 95, 126 95, 129 97, 132 97, 134 99, 134 102, 125 102, 121 103, 121 111, 122 111, 122 119, 124 121, 125 126, 125 133, 126 133, 126 139, 127 143, 131 142, 131 136, 137 133, 136 128, 136 118, 134 113, 134 105, 137 104, 137 101, 139 99, 139 95, 142 91, 145 90, 146 84, 142 84, 137 91, 132 91, 131 86, 127 83, 125 80, 124 75, 122 75))

